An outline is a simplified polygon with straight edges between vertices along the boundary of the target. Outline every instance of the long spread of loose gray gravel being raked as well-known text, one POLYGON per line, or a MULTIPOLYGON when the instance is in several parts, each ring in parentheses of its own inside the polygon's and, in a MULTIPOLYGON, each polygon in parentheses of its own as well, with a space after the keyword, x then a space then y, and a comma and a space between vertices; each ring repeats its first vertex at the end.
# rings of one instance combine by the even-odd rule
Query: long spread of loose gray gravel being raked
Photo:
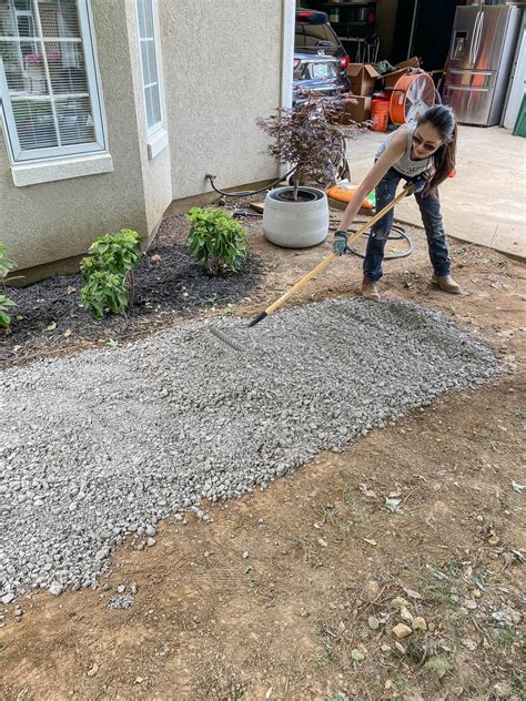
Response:
MULTIPOLYGON (((0 597, 95 586, 129 534, 240 496, 451 389, 498 372, 451 319, 332 299, 246 322, 192 322, 115 349, 2 373, 0 597)), ((183 521, 184 522, 184 521, 183 521)), ((151 542, 151 541, 150 541, 151 542)))

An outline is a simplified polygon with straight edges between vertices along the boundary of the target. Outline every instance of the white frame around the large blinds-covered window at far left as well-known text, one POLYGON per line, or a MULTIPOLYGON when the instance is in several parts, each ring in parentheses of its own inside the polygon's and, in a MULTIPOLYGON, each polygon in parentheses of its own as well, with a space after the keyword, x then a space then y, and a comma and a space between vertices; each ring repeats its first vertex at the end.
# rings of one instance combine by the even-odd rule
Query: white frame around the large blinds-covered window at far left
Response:
MULTIPOLYGON (((42 28, 40 24, 40 16, 38 13, 38 0, 32 0, 34 3, 37 28, 39 31, 40 40, 42 37, 42 28)), ((28 163, 28 162, 41 162, 49 159, 58 159, 71 155, 81 154, 98 154, 107 151, 107 129, 102 105, 102 91, 100 84, 100 75, 98 70, 97 60, 97 47, 94 42, 93 32, 93 18, 91 16, 91 1, 90 0, 77 0, 77 8, 79 13, 79 29, 80 39, 82 43, 84 65, 88 82, 88 96, 91 103, 91 116, 93 119, 95 141, 90 143, 69 144, 65 146, 48 146, 44 149, 22 149, 18 136, 17 124, 14 121, 14 114, 11 105, 11 98, 9 94, 8 83, 3 69, 3 61, 0 57, 0 104, 1 114, 3 120, 3 128, 6 133, 6 140, 8 143, 9 152, 13 164, 28 163)), ((9 37, 0 37, 3 40, 11 40, 9 37)), ((52 40, 53 37, 45 37, 47 41, 52 40)), ((64 38, 57 37, 58 41, 64 41, 64 38)), ((18 43, 18 40, 14 40, 18 43)), ((30 41, 30 39, 28 40, 30 41)), ((45 58, 44 58, 44 65, 45 58)), ((48 69, 45 69, 48 70, 48 69)), ((53 95, 51 81, 49 80, 50 95, 53 95)), ((49 96, 49 95, 47 95, 49 96)), ((65 95, 67 96, 67 95, 65 95)))

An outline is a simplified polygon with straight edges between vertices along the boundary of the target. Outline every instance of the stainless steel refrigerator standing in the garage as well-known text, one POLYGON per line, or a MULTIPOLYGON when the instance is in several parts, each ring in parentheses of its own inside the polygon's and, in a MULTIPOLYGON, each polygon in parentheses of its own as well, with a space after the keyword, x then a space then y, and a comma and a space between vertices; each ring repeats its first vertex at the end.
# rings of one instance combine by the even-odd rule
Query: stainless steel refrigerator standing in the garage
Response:
POLYGON ((443 100, 458 122, 499 123, 522 12, 504 4, 456 9, 443 100))

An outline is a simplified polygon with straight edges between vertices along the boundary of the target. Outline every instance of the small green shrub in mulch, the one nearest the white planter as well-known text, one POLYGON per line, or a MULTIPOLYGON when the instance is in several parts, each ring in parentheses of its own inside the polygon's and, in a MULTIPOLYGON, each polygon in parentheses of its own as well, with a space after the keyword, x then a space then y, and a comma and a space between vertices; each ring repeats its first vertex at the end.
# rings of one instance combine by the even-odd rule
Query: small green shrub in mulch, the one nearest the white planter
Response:
POLYGON ((192 223, 189 247, 212 275, 225 270, 239 272, 247 254, 246 232, 224 210, 206 212, 192 207, 188 213, 192 223))

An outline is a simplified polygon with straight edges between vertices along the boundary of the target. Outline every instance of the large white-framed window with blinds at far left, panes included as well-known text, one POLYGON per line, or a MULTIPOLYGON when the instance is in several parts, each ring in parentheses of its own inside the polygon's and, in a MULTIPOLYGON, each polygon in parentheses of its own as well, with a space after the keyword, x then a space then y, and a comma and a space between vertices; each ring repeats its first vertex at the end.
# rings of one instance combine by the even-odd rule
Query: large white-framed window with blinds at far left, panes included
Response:
POLYGON ((87 0, 0 0, 0 88, 16 160, 104 148, 88 22, 87 0))

